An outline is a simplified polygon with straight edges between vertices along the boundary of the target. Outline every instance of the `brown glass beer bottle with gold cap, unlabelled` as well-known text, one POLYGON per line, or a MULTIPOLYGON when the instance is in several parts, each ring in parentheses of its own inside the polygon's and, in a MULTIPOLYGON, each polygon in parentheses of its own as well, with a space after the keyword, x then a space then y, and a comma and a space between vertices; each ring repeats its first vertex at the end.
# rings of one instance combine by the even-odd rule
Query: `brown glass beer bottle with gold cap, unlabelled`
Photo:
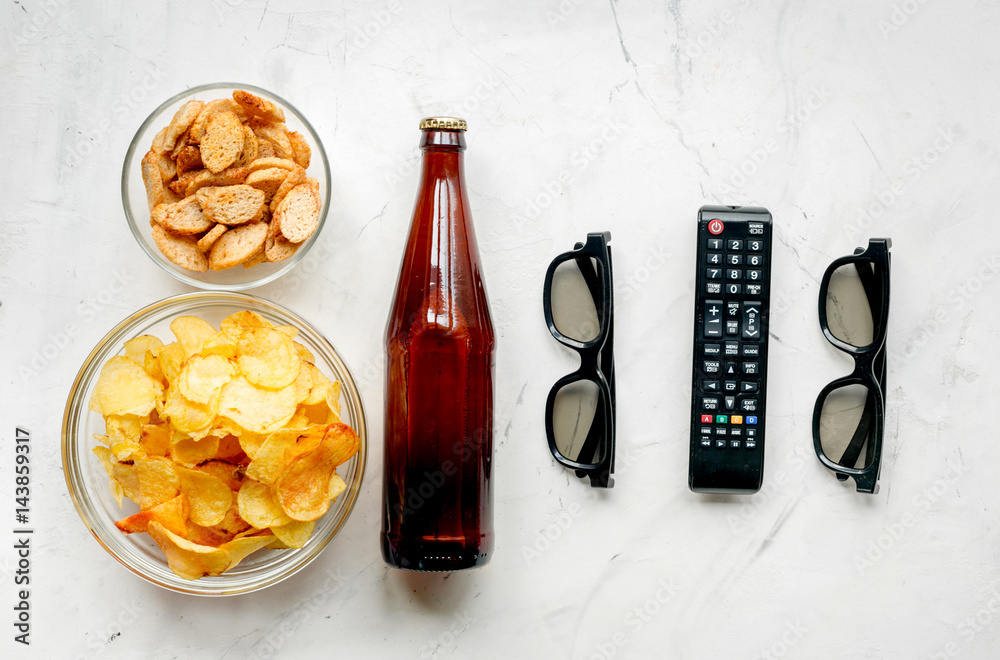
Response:
POLYGON ((481 566, 493 550, 493 322, 463 180, 466 123, 420 122, 423 172, 386 326, 382 556, 481 566))

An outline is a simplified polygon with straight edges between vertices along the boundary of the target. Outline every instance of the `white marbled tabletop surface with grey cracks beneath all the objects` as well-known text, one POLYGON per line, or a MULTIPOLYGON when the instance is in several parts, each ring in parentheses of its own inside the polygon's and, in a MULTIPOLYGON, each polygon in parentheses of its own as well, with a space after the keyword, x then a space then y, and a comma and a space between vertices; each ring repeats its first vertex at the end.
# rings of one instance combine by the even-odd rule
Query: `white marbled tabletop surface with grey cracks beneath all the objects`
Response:
POLYGON ((0 10, 0 656, 995 657, 996 3, 153 4, 0 10), (128 141, 161 100, 222 80, 291 100, 330 153, 329 257, 255 293, 346 355, 373 442, 342 535, 292 579, 219 600, 151 586, 90 537, 59 428, 91 347, 187 290, 126 228, 128 141), (380 360, 417 121, 440 113, 469 121, 499 336, 497 545, 483 570, 422 576, 387 569, 376 543, 380 360), (765 487, 749 498, 686 486, 704 203, 764 205, 777 226, 765 487), (545 329, 542 274, 601 229, 618 301, 610 492, 558 467, 542 424, 575 361, 545 329), (816 393, 849 369, 820 334, 818 279, 869 236, 895 256, 874 497, 823 469, 810 437, 816 393), (15 425, 35 451, 28 648, 9 623, 15 425))

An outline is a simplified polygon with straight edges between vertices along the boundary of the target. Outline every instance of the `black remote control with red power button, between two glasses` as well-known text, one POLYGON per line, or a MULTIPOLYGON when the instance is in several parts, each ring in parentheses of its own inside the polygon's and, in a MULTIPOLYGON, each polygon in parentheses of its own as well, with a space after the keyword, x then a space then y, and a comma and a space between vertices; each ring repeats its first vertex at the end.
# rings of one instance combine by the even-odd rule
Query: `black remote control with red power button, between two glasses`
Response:
POLYGON ((698 211, 688 486, 754 493, 764 475, 771 214, 698 211))

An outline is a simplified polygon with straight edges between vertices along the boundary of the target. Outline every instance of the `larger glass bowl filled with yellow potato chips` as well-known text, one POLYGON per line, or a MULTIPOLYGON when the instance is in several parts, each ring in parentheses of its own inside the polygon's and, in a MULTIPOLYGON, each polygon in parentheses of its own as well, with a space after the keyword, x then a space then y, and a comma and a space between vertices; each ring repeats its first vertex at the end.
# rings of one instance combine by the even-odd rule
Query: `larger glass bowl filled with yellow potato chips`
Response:
POLYGON ((63 465, 97 541, 140 577, 222 596, 275 584, 343 528, 367 457, 351 372, 307 321, 198 292, 119 323, 87 357, 63 465))

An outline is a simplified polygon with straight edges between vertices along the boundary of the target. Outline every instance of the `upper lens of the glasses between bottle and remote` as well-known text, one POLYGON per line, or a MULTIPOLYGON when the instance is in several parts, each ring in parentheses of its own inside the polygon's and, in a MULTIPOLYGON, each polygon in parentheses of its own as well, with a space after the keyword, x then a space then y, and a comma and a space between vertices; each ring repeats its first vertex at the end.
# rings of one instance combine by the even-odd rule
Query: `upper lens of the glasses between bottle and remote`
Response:
POLYGON ((583 343, 597 339, 601 334, 597 301, 603 295, 602 277, 600 262, 593 257, 569 259, 556 267, 551 295, 556 330, 583 343))

